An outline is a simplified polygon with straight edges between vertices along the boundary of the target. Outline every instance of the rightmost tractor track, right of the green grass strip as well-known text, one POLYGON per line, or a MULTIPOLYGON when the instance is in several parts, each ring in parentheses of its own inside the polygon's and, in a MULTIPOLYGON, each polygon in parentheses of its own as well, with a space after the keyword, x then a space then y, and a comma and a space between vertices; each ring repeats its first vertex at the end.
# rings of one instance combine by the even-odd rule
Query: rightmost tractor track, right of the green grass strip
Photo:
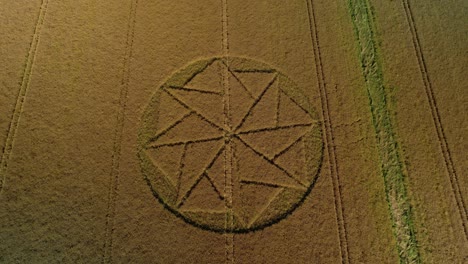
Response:
POLYGON ((440 150, 444 158, 445 168, 450 180, 450 187, 455 196, 455 202, 460 214, 462 221, 463 231, 465 233, 465 238, 468 240, 468 216, 466 212, 466 204, 463 199, 463 194, 461 192, 460 183, 458 181, 458 175, 453 165, 452 154, 450 153, 450 148, 447 143, 447 137, 445 136, 444 127, 442 125, 442 120, 440 118, 439 108, 437 107, 437 101, 435 99, 434 90, 432 88, 432 82, 427 71, 426 60, 421 48, 421 43, 419 40, 418 31, 416 28, 416 23, 414 21, 413 12, 411 10, 411 5, 409 0, 402 0, 403 9, 405 10, 406 20, 411 32, 414 52, 418 60, 419 70, 421 72, 421 78, 424 84, 424 90, 426 92, 427 101, 431 108, 432 120, 434 122, 434 128, 437 133, 437 139, 439 141, 440 150))

